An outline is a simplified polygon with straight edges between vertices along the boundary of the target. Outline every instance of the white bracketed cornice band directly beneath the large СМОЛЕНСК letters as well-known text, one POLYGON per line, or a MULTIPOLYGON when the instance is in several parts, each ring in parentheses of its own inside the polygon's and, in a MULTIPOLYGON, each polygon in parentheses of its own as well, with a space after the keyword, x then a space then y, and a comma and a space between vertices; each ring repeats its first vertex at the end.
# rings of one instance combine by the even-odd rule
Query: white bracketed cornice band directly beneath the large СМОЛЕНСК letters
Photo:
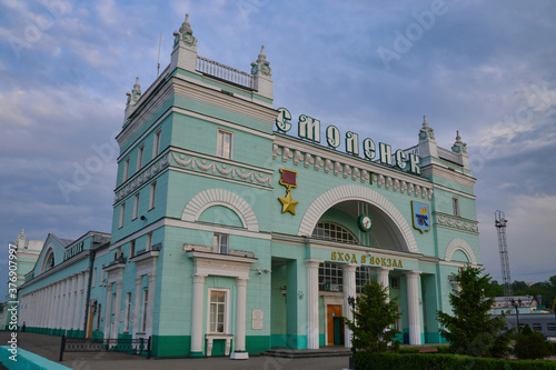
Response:
MULTIPOLYGON (((334 173, 336 177, 341 173, 344 179, 350 178, 351 181, 357 181, 359 179, 361 183, 370 181, 370 184, 375 183, 377 188, 384 187, 386 190, 391 190, 394 192, 399 190, 399 193, 401 194, 406 193, 415 198, 420 197, 421 199, 433 200, 434 190, 431 186, 425 186, 425 181, 406 181, 401 178, 395 178, 391 174, 375 172, 375 169, 364 169, 357 166, 360 163, 357 163, 355 160, 350 160, 349 158, 341 158, 341 160, 330 159, 304 152, 297 148, 288 148, 284 144, 275 143, 272 146, 272 159, 276 160, 278 157, 281 157, 281 161, 285 163, 291 159, 294 166, 302 163, 305 168, 312 167, 315 171, 322 169, 325 173, 334 173)), ((400 177, 404 177, 404 174, 400 173, 400 177)))

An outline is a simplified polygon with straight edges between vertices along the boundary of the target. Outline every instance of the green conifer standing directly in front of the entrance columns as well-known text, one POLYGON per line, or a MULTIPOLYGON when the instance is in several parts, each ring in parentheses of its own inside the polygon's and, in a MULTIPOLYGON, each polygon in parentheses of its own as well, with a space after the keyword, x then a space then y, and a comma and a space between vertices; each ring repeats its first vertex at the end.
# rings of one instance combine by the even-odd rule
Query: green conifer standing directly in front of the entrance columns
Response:
POLYGON ((373 352, 391 348, 394 337, 399 333, 393 326, 401 312, 398 312, 397 297, 390 301, 388 298, 388 289, 374 279, 363 287, 356 308, 351 310, 354 320, 344 318, 354 333, 355 348, 373 352))

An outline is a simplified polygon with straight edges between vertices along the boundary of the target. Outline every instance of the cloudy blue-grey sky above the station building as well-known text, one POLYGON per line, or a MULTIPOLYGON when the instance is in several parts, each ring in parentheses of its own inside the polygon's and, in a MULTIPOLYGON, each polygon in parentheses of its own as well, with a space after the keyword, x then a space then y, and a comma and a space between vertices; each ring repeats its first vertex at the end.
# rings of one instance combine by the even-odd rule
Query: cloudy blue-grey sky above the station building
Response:
POLYGON ((126 92, 156 78, 160 34, 169 63, 186 12, 199 56, 249 71, 265 44, 275 108, 393 148, 423 114, 444 148, 459 130, 487 272, 500 209, 513 280, 556 274, 554 1, 0 0, 2 276, 21 228, 110 232, 126 92))

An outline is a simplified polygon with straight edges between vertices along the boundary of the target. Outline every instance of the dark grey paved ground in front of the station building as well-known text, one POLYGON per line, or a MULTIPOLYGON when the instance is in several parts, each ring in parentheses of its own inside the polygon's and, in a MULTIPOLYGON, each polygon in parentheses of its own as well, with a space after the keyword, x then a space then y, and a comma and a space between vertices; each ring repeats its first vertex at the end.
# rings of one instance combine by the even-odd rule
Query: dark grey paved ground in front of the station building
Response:
MULTIPOLYGON (((7 344, 10 332, 0 332, 0 344, 7 344)), ((60 351, 60 337, 18 332, 18 347, 57 361, 60 351)), ((201 359, 151 359, 113 352, 64 353, 62 364, 77 370, 142 370, 142 369, 206 369, 206 370, 327 370, 347 368, 347 357, 282 359, 251 357, 249 360, 229 358, 201 359)), ((1 369, 1 368, 0 368, 1 369)))

